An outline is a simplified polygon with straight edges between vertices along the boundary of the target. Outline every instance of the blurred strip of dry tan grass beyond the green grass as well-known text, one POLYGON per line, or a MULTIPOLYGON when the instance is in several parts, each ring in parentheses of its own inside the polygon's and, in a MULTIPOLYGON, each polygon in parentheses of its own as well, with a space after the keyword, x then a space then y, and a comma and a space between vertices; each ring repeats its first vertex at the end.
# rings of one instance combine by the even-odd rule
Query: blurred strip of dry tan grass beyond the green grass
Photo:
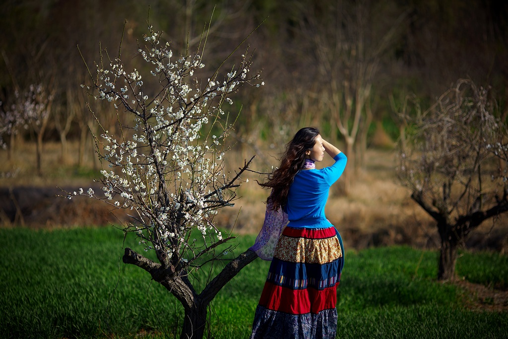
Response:
MULTIPOLYGON (((26 226, 54 227, 66 225, 115 223, 117 217, 109 214, 109 208, 100 202, 57 200, 56 186, 66 188, 88 188, 93 178, 99 177, 100 164, 92 155, 86 153, 85 166, 77 167, 78 144, 70 142, 69 154, 61 159, 59 143, 47 142, 44 145, 43 176, 36 173, 35 144, 18 143, 13 159, 7 160, 7 151, 0 150, 0 188, 35 187, 46 188, 44 201, 29 200, 25 206, 26 226), (30 210, 30 207, 31 210, 30 210), (93 217, 97 217, 93 219, 93 217)), ((262 156, 253 161, 251 169, 268 172, 277 166, 278 150, 265 150, 262 156)), ((241 148, 228 153, 226 167, 231 173, 243 165, 254 154, 252 149, 241 148)), ((348 194, 343 192, 343 182, 332 188, 326 213, 344 239, 348 248, 365 248, 375 245, 410 244, 419 248, 437 248, 439 240, 435 224, 412 199, 410 192, 397 181, 396 151, 390 149, 369 149, 363 170, 354 173, 355 180, 348 194)), ((327 159, 322 166, 331 165, 327 159)), ((351 164, 350 164, 351 165, 351 164)), ((346 170, 352 170, 351 166, 346 170)), ((237 191, 238 199, 233 207, 227 207, 216 215, 218 227, 234 230, 238 234, 256 234, 263 225, 265 201, 269 194, 256 183, 263 180, 262 175, 249 172, 243 176, 248 179, 237 191)), ((100 188, 98 188, 100 190, 100 188)), ((96 190, 96 192, 98 191, 96 190)), ((4 204, 5 206, 5 204, 4 204)), ((20 220, 19 215, 16 220, 20 220)), ((493 249, 501 253, 508 250, 508 215, 501 215, 487 221, 476 230, 468 240, 468 246, 477 249, 493 249)), ((5 207, 0 210, 0 222, 6 226, 17 222, 9 221, 5 207)))

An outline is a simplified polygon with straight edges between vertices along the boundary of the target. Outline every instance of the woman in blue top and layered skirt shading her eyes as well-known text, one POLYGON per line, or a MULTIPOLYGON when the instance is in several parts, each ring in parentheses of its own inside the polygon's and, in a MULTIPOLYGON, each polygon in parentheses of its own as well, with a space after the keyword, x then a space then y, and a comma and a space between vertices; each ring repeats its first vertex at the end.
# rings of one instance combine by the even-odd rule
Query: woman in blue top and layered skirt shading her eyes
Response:
POLYGON ((251 249, 272 263, 251 339, 335 338, 343 248, 325 217, 325 204, 346 161, 319 130, 303 128, 286 145, 280 166, 260 183, 272 193, 263 229, 251 249), (315 162, 323 160, 325 151, 335 163, 316 170, 315 162))

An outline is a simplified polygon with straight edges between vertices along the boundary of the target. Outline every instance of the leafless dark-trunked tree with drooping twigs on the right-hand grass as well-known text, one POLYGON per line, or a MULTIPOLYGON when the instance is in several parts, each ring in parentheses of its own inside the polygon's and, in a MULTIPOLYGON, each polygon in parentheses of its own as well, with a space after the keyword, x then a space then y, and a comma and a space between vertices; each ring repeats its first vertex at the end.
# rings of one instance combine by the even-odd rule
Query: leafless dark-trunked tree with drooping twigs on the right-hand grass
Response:
POLYGON ((439 280, 454 279, 458 246, 471 231, 508 211, 506 173, 499 168, 499 160, 508 159, 506 131, 493 108, 485 88, 459 80, 434 107, 410 120, 399 175, 436 222, 439 280))

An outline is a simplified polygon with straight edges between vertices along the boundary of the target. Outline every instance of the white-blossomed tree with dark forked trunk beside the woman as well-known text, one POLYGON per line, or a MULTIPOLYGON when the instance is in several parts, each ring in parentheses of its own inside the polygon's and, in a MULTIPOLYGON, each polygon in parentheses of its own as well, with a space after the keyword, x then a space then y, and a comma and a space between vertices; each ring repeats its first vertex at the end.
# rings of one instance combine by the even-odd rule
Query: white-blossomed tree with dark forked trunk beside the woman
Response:
POLYGON ((198 77, 205 74, 203 47, 175 56, 151 26, 144 42, 138 51, 151 69, 147 74, 126 71, 120 55, 111 60, 106 51, 101 53, 86 88, 94 99, 114 105, 119 134, 103 127, 100 112, 91 112, 102 130, 93 138, 103 164, 104 192, 80 190, 70 197, 88 195, 130 210, 133 221, 124 225, 124 231, 134 232, 158 262, 129 248, 123 262, 145 269, 181 302, 185 311, 181 338, 200 338, 209 302, 257 257, 252 251, 239 255, 200 293, 189 279, 205 263, 224 257, 223 244, 233 237, 217 229, 214 215, 232 205, 241 174, 252 160, 234 175, 226 172, 224 141, 234 121, 224 107, 233 103, 230 95, 241 85, 262 83, 259 73, 249 71, 250 54, 242 55, 223 78, 217 70, 203 81, 198 77))

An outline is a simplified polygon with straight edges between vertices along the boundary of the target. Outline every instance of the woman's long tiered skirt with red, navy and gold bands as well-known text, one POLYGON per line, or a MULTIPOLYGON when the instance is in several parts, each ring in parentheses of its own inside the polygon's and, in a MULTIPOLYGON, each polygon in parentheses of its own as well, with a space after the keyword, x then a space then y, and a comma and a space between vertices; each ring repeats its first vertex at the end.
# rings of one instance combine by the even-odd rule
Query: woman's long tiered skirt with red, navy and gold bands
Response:
POLYGON ((286 227, 256 309, 251 339, 335 338, 343 265, 342 239, 335 227, 286 227))

